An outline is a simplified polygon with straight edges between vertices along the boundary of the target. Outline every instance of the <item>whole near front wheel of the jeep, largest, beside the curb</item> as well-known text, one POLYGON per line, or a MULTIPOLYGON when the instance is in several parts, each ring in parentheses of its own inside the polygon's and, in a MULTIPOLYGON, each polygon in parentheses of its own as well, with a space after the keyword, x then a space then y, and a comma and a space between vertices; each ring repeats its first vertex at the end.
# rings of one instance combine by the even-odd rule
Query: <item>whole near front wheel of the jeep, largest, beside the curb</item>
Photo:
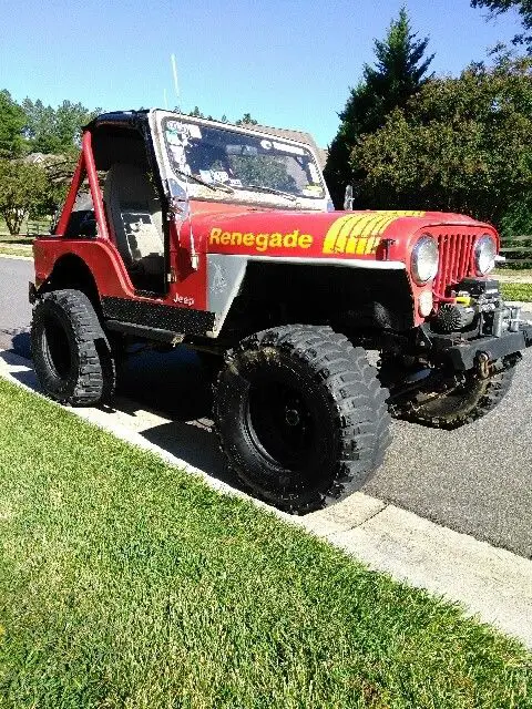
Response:
POLYGON ((380 465, 387 395, 361 348, 328 327, 286 326, 227 353, 214 417, 246 486, 305 513, 354 492, 380 465))

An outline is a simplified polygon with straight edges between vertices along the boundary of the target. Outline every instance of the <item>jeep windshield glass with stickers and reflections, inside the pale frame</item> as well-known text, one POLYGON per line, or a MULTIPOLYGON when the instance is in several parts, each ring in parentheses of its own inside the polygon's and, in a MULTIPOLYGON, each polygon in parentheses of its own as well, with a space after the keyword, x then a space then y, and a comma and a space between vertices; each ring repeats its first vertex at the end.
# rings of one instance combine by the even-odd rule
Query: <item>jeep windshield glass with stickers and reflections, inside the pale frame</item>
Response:
POLYGON ((202 189, 238 194, 264 192, 287 202, 323 199, 325 189, 313 155, 282 138, 165 119, 163 135, 177 178, 191 175, 202 189))

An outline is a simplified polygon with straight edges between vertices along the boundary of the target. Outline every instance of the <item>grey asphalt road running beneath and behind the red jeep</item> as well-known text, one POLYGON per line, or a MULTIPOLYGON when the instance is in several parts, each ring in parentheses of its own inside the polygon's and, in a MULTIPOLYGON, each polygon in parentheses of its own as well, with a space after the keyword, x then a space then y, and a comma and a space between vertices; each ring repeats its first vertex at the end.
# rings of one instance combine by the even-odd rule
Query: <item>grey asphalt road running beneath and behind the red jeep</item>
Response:
MULTIPOLYGON (((24 356, 31 277, 31 261, 0 258, 0 347, 24 356)), ((481 421, 458 431, 393 422, 395 440, 387 460, 364 491, 532 558, 531 369, 529 350, 507 399, 481 421)), ((136 358, 123 372, 120 391, 176 423, 208 418, 207 382, 186 351, 136 358)), ((153 439, 161 445, 173 431, 154 430, 153 439)), ((197 430, 192 435, 191 427, 183 431, 180 445, 188 449, 186 460, 209 472, 205 450, 214 451, 206 445, 211 434, 197 430)), ((167 444, 172 445, 170 440, 167 444)))

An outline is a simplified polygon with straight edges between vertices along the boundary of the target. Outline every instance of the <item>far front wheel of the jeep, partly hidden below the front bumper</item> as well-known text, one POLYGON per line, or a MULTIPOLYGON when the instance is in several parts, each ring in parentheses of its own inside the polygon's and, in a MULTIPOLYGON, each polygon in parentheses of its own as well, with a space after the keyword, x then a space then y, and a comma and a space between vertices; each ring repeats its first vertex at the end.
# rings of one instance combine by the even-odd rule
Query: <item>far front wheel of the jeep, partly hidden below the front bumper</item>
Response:
POLYGON ((399 407, 397 419, 434 429, 459 429, 489 413, 507 394, 512 383, 515 360, 497 362, 499 371, 481 379, 474 371, 444 392, 423 392, 399 407))

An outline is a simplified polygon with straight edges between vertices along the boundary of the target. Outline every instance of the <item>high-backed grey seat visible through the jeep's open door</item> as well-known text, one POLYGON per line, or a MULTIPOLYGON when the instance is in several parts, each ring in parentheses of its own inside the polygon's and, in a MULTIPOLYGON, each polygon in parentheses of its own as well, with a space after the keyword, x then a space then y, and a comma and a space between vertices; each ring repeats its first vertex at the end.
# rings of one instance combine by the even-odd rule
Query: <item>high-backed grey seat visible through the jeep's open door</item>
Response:
POLYGON ((114 163, 105 177, 103 199, 111 234, 133 284, 150 289, 154 277, 164 280, 162 209, 146 171, 114 163))

